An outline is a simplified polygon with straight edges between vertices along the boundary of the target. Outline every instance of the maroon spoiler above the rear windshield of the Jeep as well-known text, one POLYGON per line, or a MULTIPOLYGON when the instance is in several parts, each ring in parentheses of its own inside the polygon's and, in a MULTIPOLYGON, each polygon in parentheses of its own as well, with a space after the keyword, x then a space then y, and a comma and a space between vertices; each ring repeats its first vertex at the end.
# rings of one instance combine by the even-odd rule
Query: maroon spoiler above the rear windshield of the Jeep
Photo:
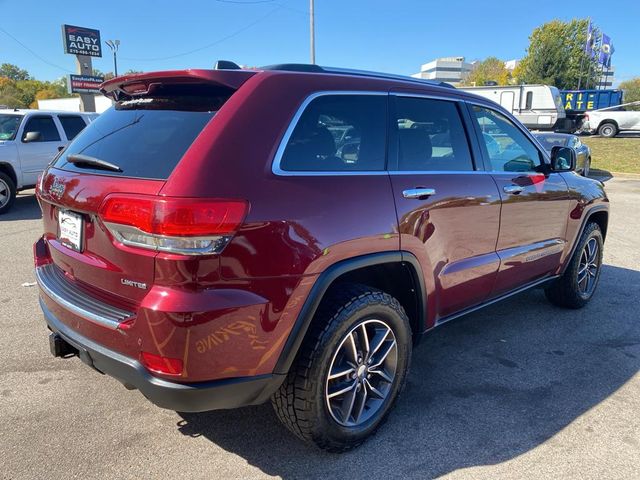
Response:
POLYGON ((118 101, 145 95, 154 84, 208 84, 237 90, 256 73, 253 70, 170 70, 123 75, 104 82, 100 92, 118 101))

